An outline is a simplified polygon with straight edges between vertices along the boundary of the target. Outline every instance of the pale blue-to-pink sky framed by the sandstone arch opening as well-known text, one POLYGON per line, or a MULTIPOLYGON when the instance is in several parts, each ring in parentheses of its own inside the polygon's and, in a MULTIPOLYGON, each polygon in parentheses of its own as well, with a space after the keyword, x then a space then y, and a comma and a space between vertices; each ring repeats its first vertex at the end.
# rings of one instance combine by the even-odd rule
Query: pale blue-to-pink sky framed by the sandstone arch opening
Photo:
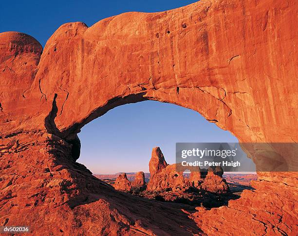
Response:
MULTIPOLYGON (((167 162, 173 164, 177 142, 238 142, 229 131, 208 122, 200 113, 157 101, 113 108, 87 124, 78 137, 82 149, 77 162, 109 183, 114 183, 121 173, 127 173, 127 178, 133 181, 139 171, 145 173, 148 182, 151 149, 155 146, 160 146, 167 162)), ((184 176, 189 178, 189 173, 184 176)), ((238 188, 234 183, 234 192, 249 189, 249 182, 239 184, 238 188)))

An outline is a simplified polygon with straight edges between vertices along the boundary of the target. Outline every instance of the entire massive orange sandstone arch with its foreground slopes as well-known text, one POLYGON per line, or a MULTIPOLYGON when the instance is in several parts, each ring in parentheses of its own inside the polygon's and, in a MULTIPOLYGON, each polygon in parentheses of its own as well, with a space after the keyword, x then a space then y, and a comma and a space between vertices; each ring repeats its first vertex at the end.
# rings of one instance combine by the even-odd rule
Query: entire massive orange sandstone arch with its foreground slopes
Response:
POLYGON ((240 142, 297 142, 296 12, 296 0, 202 0, 63 24, 42 54, 31 36, 1 33, 0 223, 35 235, 186 235, 199 233, 194 219, 209 235, 295 235, 295 172, 259 173, 240 200, 187 220, 75 160, 81 127, 148 99, 196 110, 240 142))

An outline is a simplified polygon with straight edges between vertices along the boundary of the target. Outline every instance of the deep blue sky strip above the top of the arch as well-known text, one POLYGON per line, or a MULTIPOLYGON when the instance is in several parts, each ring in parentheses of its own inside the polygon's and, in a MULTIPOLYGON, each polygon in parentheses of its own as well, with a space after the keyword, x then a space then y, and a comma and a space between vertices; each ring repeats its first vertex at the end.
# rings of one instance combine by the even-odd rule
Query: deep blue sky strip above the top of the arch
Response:
POLYGON ((158 12, 197 0, 17 0, 1 1, 0 32, 19 31, 35 37, 44 47, 64 23, 82 21, 88 26, 124 12, 158 12))

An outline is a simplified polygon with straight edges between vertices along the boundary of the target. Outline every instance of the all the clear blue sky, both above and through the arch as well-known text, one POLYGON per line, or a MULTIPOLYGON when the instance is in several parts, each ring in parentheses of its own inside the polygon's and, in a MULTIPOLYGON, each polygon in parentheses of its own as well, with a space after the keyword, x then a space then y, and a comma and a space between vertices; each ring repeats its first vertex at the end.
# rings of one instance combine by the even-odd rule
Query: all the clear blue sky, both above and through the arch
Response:
MULTIPOLYGON (((123 12, 165 11, 196 0, 19 0, 2 1, 0 32, 19 31, 44 47, 63 23, 88 26, 123 12)), ((148 172, 151 149, 161 147, 168 163, 175 162, 176 142, 238 142, 228 131, 207 122, 199 113, 154 101, 110 110, 82 128, 78 162, 93 173, 148 172)))

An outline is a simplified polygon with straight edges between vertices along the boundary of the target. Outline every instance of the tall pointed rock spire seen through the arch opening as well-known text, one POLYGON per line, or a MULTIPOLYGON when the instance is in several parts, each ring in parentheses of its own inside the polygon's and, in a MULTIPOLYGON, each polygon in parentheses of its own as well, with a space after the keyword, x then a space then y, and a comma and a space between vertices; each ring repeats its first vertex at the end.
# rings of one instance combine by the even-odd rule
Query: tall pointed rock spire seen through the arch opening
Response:
POLYGON ((168 163, 165 161, 164 154, 160 148, 154 147, 152 149, 151 159, 149 161, 149 172, 150 176, 161 172, 162 169, 166 168, 168 163))

